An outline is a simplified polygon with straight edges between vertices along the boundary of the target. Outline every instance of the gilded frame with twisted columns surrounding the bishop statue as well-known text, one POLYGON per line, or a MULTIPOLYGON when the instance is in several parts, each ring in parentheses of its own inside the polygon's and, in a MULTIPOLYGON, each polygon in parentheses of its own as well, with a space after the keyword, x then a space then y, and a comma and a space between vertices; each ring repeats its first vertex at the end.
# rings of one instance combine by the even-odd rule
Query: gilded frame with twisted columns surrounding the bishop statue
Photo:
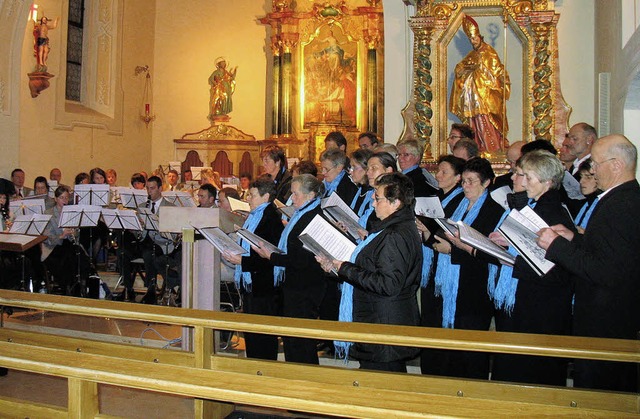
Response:
MULTIPOLYGON (((570 109, 559 82, 556 24, 560 15, 554 11, 553 1, 547 0, 419 0, 416 15, 409 21, 415 35, 415 109, 409 109, 413 115, 405 114, 409 120, 403 137, 414 136, 424 142, 427 162, 448 153, 448 47, 461 28, 463 14, 499 17, 505 34, 510 31, 521 44, 521 57, 515 59, 522 60, 522 82, 511 89, 522 89, 521 106, 515 106, 520 107, 522 127, 516 127, 518 134, 512 141, 544 138, 559 144, 567 132, 570 109)), ((486 157, 494 162, 505 160, 504 153, 486 157)))

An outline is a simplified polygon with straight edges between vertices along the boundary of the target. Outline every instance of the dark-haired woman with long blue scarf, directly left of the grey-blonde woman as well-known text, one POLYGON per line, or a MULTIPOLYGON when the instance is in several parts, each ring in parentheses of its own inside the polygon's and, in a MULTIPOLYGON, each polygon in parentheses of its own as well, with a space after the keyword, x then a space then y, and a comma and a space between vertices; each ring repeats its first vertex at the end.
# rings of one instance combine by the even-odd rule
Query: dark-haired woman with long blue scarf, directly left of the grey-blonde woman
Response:
MULTIPOLYGON (((448 205, 445 216, 463 221, 480 233, 491 233, 504 209, 488 194, 494 177, 491 163, 475 157, 465 163, 461 185, 464 198, 458 205, 448 205)), ((434 275, 423 292, 433 293, 431 306, 423 307, 423 326, 468 330, 489 330, 493 304, 487 294, 489 264, 493 258, 463 244, 458 238, 440 233, 432 248, 438 252, 434 275)), ((431 297, 431 296, 430 296, 431 297)), ((422 351, 423 374, 487 379, 489 355, 482 352, 425 349, 422 351)))

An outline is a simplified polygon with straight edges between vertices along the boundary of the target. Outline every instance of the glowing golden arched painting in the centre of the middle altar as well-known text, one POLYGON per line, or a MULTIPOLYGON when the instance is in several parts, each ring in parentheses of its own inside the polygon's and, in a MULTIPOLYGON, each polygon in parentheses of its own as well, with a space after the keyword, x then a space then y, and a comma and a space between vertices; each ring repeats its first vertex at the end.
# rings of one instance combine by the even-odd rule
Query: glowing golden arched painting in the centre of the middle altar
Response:
POLYGON ((302 44, 302 60, 303 128, 313 124, 357 127, 358 42, 338 24, 323 25, 302 44))

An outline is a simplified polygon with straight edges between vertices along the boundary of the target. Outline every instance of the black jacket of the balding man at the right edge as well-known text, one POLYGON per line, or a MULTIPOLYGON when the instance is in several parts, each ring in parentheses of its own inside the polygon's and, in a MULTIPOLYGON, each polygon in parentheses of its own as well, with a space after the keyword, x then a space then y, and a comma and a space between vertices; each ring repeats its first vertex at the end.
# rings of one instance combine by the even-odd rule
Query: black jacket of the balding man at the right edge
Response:
POLYGON ((547 259, 575 278, 573 331, 637 339, 640 330, 640 185, 632 180, 598 202, 584 235, 558 237, 547 259))

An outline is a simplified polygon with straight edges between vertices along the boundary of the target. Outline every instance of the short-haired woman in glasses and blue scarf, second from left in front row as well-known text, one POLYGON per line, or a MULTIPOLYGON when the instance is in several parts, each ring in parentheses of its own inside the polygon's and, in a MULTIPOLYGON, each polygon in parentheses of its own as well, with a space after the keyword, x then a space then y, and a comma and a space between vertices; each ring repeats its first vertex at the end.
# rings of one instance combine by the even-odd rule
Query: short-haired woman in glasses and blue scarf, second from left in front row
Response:
MULTIPOLYGON (((278 248, 284 253, 274 253, 260 246, 252 249, 274 266, 276 283, 281 285, 282 315, 300 319, 317 319, 320 303, 327 283, 324 272, 313 253, 302 247, 298 238, 302 230, 318 214, 324 185, 309 174, 299 175, 291 181, 291 199, 296 211, 285 227, 278 248)), ((316 341, 313 339, 283 337, 284 356, 289 362, 318 364, 316 341)))

